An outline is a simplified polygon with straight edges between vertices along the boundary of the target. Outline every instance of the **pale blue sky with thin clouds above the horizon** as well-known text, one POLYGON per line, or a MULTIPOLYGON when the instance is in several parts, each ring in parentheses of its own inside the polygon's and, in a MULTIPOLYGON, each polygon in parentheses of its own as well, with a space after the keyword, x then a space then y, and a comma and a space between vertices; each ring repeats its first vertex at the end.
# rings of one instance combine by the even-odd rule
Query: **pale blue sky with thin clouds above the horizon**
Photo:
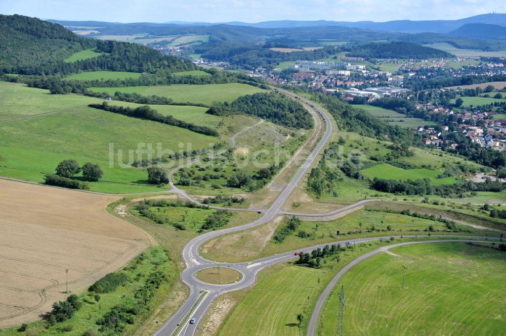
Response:
POLYGON ((506 13, 503 0, 0 0, 0 13, 110 22, 445 20, 506 13))

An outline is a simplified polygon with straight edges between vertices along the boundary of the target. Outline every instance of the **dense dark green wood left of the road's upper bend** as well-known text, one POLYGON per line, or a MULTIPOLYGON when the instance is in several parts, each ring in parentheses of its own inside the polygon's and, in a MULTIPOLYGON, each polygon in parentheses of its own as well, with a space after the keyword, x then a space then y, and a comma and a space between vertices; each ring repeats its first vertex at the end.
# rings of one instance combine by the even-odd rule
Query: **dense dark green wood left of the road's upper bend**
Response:
POLYGON ((217 103, 207 113, 218 116, 245 113, 286 127, 313 127, 311 115, 300 103, 274 92, 244 95, 230 104, 217 103))

